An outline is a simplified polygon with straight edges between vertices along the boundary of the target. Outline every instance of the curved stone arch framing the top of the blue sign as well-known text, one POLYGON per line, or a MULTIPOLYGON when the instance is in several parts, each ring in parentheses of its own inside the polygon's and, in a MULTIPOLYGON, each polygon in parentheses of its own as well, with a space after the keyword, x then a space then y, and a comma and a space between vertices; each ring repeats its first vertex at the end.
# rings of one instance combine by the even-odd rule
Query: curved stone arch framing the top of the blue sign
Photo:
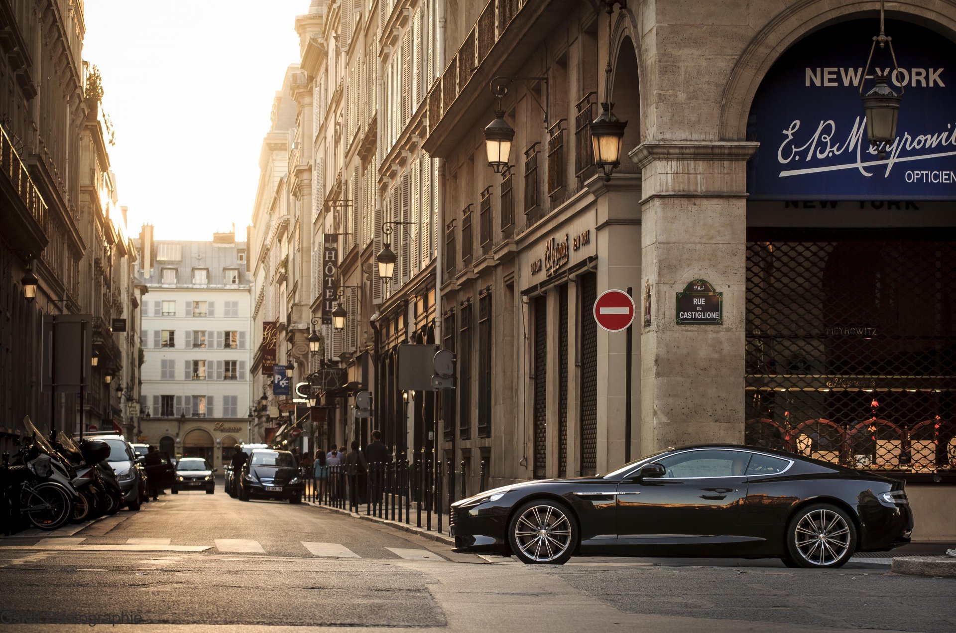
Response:
MULTIPOLYGON (((892 11, 886 12, 886 17, 932 28, 956 40, 956 0, 933 3, 939 10, 927 5, 923 0, 899 0, 892 11)), ((777 13, 750 41, 730 73, 721 100, 719 138, 745 140, 750 106, 761 82, 780 55, 794 43, 838 22, 876 17, 879 10, 880 0, 851 1, 839 7, 834 7, 830 0, 808 0, 777 13)))

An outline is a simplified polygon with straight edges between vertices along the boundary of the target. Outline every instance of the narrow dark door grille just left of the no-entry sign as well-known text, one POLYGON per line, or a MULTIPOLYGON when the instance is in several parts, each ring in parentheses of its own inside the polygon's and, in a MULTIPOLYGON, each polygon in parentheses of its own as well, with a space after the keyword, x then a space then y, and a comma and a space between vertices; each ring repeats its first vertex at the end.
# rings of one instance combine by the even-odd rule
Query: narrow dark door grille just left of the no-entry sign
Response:
POLYGON ((597 323, 593 312, 597 301, 597 275, 581 276, 581 474, 597 470, 597 323))

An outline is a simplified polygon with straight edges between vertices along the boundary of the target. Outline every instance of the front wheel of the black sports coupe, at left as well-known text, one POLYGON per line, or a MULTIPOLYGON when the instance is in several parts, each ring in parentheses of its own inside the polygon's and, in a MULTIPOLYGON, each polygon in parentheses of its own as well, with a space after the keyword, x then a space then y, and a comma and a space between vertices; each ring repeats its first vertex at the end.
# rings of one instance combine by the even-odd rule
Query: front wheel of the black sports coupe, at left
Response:
POLYGON ((511 552, 526 565, 563 565, 575 553, 577 538, 575 516, 556 501, 529 501, 508 524, 511 552))

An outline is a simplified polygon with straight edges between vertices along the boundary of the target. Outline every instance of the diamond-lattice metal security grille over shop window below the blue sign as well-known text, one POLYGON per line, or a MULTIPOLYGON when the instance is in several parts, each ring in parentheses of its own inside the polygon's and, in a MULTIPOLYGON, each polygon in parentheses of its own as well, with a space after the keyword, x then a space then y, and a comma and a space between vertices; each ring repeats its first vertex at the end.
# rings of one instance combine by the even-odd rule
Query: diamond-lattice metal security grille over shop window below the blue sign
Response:
POLYGON ((747 442, 915 478, 956 469, 956 244, 775 236, 748 244, 747 442))

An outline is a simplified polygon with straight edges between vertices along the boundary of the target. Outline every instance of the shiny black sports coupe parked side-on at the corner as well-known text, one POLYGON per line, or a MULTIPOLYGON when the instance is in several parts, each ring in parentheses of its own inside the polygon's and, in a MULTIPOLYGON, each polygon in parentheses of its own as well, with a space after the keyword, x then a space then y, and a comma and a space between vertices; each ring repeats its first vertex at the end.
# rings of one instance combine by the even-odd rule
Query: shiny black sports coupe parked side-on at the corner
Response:
POLYGON ((903 482, 737 445, 669 448, 594 477, 546 479, 452 504, 455 551, 526 563, 577 556, 779 557, 839 567, 909 542, 903 482))

